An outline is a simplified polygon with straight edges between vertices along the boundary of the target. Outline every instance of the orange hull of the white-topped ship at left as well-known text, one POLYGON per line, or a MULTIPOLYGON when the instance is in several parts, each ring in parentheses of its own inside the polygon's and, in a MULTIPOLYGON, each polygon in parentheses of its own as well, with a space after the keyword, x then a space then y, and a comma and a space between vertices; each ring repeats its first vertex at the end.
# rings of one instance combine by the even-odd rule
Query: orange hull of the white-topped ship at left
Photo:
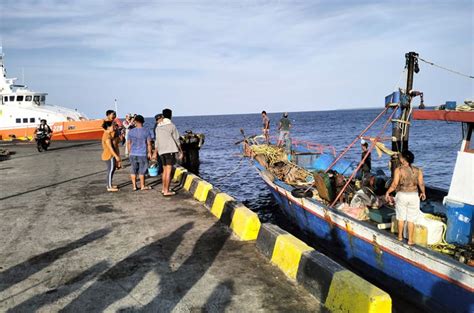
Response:
MULTIPOLYGON (((104 133, 103 120, 54 123, 52 140, 100 140, 104 133)), ((33 140, 36 127, 0 129, 0 140, 33 140)))

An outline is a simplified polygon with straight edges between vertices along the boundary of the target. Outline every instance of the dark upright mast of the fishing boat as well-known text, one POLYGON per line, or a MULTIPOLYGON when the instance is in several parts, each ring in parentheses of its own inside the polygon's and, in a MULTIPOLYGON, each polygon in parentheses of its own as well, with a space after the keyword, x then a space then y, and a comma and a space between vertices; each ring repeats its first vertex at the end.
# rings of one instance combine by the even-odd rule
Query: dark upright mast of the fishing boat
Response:
POLYGON ((405 54, 405 68, 407 69, 407 86, 400 94, 399 112, 393 120, 392 126, 392 150, 401 152, 408 150, 408 137, 410 134, 410 113, 411 113, 411 91, 413 90, 414 73, 420 71, 418 67, 418 53, 408 52, 405 54))

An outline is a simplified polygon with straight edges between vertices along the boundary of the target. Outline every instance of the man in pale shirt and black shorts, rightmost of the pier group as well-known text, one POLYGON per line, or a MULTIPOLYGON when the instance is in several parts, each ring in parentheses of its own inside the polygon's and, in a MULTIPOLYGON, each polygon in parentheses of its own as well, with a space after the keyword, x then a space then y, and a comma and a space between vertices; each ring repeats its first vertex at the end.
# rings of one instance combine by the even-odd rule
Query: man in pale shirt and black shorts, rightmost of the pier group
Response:
POLYGON ((157 155, 160 156, 161 164, 163 165, 163 189, 161 192, 163 196, 168 197, 175 194, 174 191, 170 191, 171 183, 171 170, 176 162, 176 153, 179 152, 179 157, 183 157, 181 146, 179 144, 179 133, 176 126, 171 122, 172 111, 170 109, 163 110, 163 119, 156 127, 156 140, 155 140, 155 153, 154 158, 157 155))

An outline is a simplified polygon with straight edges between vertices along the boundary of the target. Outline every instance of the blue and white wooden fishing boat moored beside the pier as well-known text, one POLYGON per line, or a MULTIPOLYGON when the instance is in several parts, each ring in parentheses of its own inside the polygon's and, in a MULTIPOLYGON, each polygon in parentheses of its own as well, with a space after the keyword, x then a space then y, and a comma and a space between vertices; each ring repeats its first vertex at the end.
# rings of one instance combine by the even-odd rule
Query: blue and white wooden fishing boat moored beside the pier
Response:
MULTIPOLYGON (((413 52, 406 56, 408 67, 406 90, 412 90, 417 56, 413 52)), ((395 152, 408 148, 408 131, 400 132, 399 130, 401 124, 409 125, 407 121, 412 112, 412 97, 404 95, 397 101, 389 101, 382 112, 388 112, 393 108, 387 123, 393 125, 392 133, 395 140, 392 142, 392 150, 395 152), (396 150, 397 148, 399 150, 396 150)), ((432 118, 439 115, 437 112, 420 111, 420 113, 415 112, 414 116, 428 118, 430 114, 432 118)), ((467 127, 464 127, 463 144, 449 192, 427 188, 427 197, 431 202, 437 201, 442 205, 443 198, 451 196, 466 206, 473 206, 474 147, 471 136, 474 128, 474 112, 464 112, 462 117, 449 113, 443 116, 445 119, 451 118, 451 121, 462 122, 467 127)), ((384 129, 387 125, 385 124, 384 129)), ((357 136, 351 145, 360 138, 364 138, 366 130, 357 136)), ((383 131, 371 141, 371 149, 375 147, 382 134, 383 131)), ((429 246, 408 245, 406 242, 397 240, 397 237, 389 230, 379 229, 376 223, 359 220, 338 210, 336 208, 338 199, 328 202, 314 195, 318 194, 318 190, 310 178, 307 179, 307 187, 303 188, 285 182, 285 177, 279 177, 275 175, 274 170, 272 171, 272 164, 268 158, 262 157, 259 153, 257 147, 264 147, 264 145, 258 140, 246 138, 242 146, 244 154, 252 158, 259 175, 287 219, 297 226, 316 247, 322 247, 329 254, 345 261, 354 270, 359 271, 364 277, 371 279, 389 293, 397 293, 429 311, 474 312, 474 269, 472 266, 464 264, 453 256, 434 251, 429 246), (307 194, 307 191, 312 192, 307 194)), ((336 172, 345 175, 345 182, 353 181, 362 162, 358 166, 358 162, 346 162, 343 158, 335 157, 333 151, 327 147, 293 142, 291 152, 286 157, 294 166, 312 173, 315 170, 313 165, 327 158, 328 155, 331 156, 332 162, 326 171, 337 168, 336 172), (302 155, 306 157, 301 157, 302 155)), ((305 185, 304 180, 303 185, 305 185)), ((339 192, 338 196, 343 195, 343 191, 339 192)), ((472 248, 472 242, 469 242, 468 246, 472 248)))

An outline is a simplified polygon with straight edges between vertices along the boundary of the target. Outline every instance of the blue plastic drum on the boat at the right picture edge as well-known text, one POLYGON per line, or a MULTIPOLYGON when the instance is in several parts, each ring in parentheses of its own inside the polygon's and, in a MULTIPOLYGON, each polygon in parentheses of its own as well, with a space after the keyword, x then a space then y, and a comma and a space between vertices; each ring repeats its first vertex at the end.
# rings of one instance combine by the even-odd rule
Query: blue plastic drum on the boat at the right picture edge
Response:
POLYGON ((444 201, 448 228, 446 241, 458 245, 468 245, 472 241, 474 205, 465 204, 450 199, 444 201))

